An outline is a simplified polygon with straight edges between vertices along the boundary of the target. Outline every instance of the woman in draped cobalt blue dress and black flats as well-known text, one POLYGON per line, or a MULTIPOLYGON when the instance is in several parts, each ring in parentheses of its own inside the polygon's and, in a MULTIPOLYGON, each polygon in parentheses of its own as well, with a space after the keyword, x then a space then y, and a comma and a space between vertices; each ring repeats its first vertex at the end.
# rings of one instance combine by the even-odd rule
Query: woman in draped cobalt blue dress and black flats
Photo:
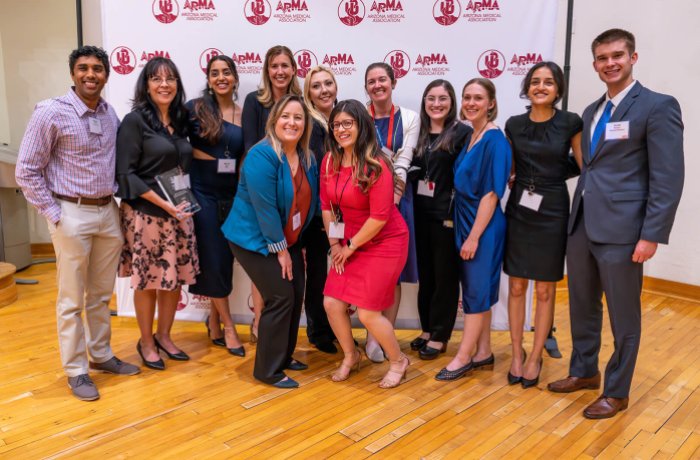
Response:
POLYGON ((491 306, 498 301, 506 233, 500 200, 512 155, 508 140, 493 123, 497 112, 493 83, 469 80, 462 90, 462 113, 474 133, 455 162, 455 240, 462 258, 464 332, 457 354, 437 380, 456 380, 494 364, 491 306))

